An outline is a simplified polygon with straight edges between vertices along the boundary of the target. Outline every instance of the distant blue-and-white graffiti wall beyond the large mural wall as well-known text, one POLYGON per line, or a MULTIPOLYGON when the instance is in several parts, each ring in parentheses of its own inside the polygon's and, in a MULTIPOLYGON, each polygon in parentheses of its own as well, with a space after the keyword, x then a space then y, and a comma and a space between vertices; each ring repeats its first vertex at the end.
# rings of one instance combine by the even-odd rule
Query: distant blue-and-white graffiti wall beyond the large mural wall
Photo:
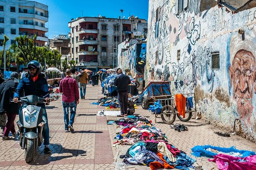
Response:
POLYGON ((122 69, 129 69, 132 77, 136 74, 142 75, 146 64, 147 44, 136 43, 128 50, 121 53, 118 66, 122 69))

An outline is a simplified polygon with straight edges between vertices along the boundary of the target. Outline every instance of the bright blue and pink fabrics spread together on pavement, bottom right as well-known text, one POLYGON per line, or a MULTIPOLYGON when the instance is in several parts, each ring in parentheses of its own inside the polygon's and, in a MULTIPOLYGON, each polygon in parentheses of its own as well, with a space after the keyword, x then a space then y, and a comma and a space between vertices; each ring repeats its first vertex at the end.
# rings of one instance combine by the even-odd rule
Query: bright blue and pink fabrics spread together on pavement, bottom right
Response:
POLYGON ((216 162, 220 170, 256 170, 256 155, 253 151, 211 145, 195 146, 191 150, 194 156, 213 157, 208 160, 216 162))

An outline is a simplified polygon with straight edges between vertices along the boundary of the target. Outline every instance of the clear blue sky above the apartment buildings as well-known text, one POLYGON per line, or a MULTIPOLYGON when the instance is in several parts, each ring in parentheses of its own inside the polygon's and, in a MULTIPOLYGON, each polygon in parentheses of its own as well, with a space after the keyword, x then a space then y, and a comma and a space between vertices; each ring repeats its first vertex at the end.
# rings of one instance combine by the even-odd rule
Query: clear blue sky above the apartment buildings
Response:
POLYGON ((54 35, 68 34, 68 22, 72 18, 83 16, 106 18, 119 18, 121 11, 125 19, 129 16, 138 16, 140 19, 148 20, 148 0, 34 0, 48 5, 49 21, 46 26, 49 28, 48 38, 54 35), (74 2, 74 4, 72 4, 74 2))

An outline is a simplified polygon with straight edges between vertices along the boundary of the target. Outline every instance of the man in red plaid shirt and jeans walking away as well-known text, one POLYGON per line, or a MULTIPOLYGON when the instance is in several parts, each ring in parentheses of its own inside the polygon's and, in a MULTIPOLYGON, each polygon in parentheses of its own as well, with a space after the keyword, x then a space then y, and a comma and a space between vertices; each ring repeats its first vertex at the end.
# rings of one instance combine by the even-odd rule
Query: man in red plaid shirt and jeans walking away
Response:
POLYGON ((62 93, 65 132, 68 132, 68 129, 73 132, 75 112, 77 104, 79 104, 79 92, 77 81, 71 77, 70 69, 66 70, 66 77, 60 80, 60 92, 62 93), (68 119, 68 108, 70 110, 70 120, 68 119))

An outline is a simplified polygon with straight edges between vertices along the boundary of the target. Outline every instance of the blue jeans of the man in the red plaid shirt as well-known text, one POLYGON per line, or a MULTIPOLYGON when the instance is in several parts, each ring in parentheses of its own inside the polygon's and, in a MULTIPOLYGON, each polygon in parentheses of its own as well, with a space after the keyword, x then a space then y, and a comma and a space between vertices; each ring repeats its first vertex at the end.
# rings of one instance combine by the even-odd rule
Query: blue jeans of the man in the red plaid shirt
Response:
POLYGON ((68 130, 68 125, 72 125, 75 121, 75 112, 77 109, 77 104, 75 101, 68 103, 62 101, 63 112, 64 112, 64 122, 65 122, 65 130, 68 130), (70 120, 68 119, 68 108, 70 110, 70 120))

